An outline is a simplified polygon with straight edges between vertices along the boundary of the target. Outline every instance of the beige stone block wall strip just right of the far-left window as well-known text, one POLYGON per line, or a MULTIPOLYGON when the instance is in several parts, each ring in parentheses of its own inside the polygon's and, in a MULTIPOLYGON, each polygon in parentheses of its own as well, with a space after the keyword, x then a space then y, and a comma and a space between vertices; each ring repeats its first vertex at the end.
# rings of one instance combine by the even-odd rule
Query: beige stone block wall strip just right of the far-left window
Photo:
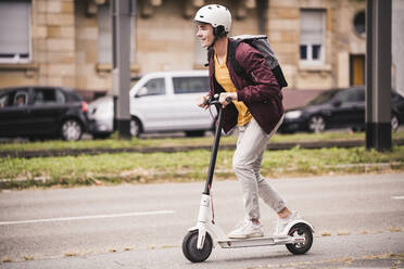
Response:
POLYGON ((33 1, 33 51, 38 84, 75 87, 73 0, 33 1))

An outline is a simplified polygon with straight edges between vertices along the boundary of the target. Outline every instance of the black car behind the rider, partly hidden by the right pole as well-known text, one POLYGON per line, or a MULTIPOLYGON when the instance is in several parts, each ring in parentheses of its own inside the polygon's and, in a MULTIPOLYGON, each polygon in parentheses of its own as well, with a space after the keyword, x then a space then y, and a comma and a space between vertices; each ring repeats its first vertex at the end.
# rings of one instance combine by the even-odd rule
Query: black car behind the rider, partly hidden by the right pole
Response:
MULTIPOLYGON (((399 129, 404 123, 404 98, 391 92, 391 128, 399 129)), ((280 132, 312 131, 351 128, 365 129, 365 88, 327 90, 306 105, 287 110, 280 132)))

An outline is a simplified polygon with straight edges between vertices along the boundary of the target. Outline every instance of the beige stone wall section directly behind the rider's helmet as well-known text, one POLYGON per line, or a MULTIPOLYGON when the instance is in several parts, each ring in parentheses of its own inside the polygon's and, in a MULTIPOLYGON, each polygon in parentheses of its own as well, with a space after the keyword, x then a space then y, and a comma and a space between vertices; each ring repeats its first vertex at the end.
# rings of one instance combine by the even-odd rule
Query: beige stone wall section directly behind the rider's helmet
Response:
MULTIPOLYGON (((237 13, 231 1, 218 2, 228 7, 232 14, 237 13)), ((257 34, 256 11, 248 9, 245 12, 243 18, 233 18, 230 35, 257 34)), ((201 67, 197 66, 195 60, 195 41, 199 44, 195 27, 192 17, 185 17, 182 2, 163 1, 152 16, 137 20, 136 29, 136 57, 140 73, 201 67)))

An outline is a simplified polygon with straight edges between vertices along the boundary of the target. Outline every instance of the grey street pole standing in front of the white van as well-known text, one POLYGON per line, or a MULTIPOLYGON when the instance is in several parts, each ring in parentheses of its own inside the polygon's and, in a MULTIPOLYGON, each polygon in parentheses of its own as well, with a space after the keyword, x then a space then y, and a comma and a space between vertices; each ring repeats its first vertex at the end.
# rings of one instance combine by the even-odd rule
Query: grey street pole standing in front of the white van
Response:
POLYGON ((116 129, 121 139, 130 139, 130 16, 135 0, 112 0, 112 87, 118 92, 114 102, 116 129))

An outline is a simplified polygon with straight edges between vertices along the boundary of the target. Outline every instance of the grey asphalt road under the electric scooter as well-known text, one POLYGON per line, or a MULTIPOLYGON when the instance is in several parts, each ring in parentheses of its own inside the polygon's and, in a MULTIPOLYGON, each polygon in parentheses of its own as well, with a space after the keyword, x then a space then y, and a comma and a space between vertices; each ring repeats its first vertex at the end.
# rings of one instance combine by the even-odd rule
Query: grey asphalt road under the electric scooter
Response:
MULTIPOLYGON (((316 233, 310 253, 285 246, 213 249, 188 262, 180 249, 195 223, 202 182, 2 191, 0 268, 402 268, 404 174, 270 180, 316 233), (401 266, 401 267, 400 267, 401 266)), ((216 221, 242 219, 236 180, 213 190, 216 221)), ((270 234, 275 214, 262 205, 270 234)))

